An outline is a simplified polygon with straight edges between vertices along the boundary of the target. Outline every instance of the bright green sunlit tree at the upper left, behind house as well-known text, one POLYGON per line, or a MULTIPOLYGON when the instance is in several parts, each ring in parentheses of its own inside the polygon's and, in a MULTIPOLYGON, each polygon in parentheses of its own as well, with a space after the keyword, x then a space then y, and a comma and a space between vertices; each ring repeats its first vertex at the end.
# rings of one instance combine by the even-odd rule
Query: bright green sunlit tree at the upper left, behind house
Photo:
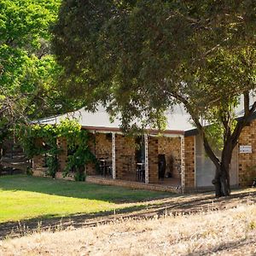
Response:
POLYGON ((61 67, 49 44, 60 3, 0 3, 0 144, 17 123, 73 108, 56 87, 61 67))

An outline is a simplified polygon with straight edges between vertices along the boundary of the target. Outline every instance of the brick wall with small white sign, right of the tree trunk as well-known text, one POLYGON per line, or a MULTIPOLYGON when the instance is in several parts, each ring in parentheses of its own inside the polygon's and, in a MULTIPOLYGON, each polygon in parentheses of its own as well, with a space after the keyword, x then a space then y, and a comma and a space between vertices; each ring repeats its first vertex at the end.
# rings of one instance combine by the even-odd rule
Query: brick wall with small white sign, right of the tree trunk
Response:
POLYGON ((256 177, 256 120, 244 127, 238 141, 239 146, 252 146, 253 153, 238 153, 238 177, 241 186, 251 186, 256 177))

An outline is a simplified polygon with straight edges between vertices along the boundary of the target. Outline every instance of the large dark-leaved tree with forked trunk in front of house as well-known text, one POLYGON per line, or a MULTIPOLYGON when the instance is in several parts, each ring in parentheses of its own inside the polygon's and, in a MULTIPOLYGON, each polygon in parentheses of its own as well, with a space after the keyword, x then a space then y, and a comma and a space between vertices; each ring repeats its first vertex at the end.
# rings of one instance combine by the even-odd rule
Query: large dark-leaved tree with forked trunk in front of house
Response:
POLYGON ((137 119, 160 126, 166 109, 183 103, 216 166, 216 195, 230 195, 232 150, 256 108, 255 13, 253 0, 63 1, 53 38, 61 84, 87 108, 102 102, 121 113, 125 130, 137 119))

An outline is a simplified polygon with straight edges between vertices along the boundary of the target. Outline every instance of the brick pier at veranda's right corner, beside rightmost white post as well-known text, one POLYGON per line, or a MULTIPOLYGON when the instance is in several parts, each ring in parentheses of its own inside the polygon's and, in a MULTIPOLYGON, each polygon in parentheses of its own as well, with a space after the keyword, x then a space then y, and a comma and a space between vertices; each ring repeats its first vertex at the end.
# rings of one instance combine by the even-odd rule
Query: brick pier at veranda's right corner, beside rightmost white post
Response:
POLYGON ((184 180, 185 190, 195 188, 195 137, 184 138, 184 180))

